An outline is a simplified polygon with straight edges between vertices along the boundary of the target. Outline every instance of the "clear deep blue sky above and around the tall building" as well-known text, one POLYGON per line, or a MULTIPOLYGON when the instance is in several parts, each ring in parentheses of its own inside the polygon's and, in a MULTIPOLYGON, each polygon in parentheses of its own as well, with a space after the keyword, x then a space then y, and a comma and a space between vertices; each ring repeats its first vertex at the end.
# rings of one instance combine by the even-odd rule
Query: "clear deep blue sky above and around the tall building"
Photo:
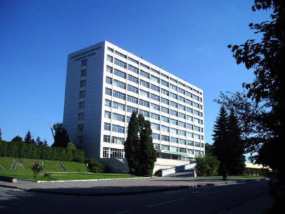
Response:
POLYGON ((2 0, 0 128, 2 139, 30 130, 53 143, 62 121, 67 55, 109 41, 204 90, 205 140, 219 92, 241 91, 253 72, 237 65, 229 44, 259 38, 249 23, 253 0, 2 0))

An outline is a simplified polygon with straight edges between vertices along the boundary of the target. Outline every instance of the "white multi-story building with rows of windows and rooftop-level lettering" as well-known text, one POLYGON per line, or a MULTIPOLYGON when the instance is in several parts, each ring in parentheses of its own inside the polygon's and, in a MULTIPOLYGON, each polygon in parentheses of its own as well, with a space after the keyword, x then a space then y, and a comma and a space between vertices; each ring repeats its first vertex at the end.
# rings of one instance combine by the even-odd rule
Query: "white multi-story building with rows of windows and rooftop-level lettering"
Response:
POLYGON ((201 89, 107 41, 68 55, 63 126, 86 157, 123 159, 133 111, 151 122, 158 158, 204 155, 201 89))

